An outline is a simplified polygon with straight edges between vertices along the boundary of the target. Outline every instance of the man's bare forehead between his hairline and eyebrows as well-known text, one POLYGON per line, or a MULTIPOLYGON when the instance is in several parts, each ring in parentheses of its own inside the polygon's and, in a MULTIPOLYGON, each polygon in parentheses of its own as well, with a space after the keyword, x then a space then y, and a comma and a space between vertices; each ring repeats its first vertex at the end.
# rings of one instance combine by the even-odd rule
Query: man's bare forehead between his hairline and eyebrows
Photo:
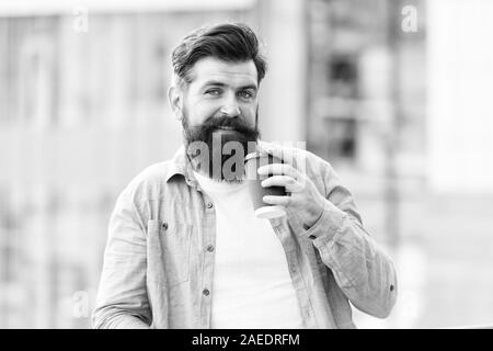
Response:
POLYGON ((253 60, 228 63, 215 57, 199 59, 191 70, 192 84, 200 87, 209 81, 228 86, 256 86, 256 67, 253 60))

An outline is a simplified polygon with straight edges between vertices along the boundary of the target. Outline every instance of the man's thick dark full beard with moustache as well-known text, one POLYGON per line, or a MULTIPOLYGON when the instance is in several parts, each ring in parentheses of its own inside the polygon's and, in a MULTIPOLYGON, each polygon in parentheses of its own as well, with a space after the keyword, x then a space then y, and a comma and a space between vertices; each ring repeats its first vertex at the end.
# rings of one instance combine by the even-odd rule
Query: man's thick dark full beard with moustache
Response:
POLYGON ((193 168, 218 181, 239 182, 243 178, 243 160, 256 149, 260 138, 257 127, 251 127, 240 117, 208 117, 203 124, 191 127, 183 111, 185 148, 193 168), (229 127, 231 129, 221 129, 229 127), (226 147, 225 147, 226 146, 226 147))

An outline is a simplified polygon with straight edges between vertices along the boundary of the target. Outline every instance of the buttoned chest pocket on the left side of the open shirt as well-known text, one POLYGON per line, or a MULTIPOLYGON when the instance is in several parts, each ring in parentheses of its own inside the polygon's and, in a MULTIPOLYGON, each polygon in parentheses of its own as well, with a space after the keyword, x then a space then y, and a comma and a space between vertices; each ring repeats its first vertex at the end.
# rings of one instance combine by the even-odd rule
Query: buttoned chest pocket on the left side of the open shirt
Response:
POLYGON ((151 219, 148 223, 147 279, 172 286, 190 279, 193 226, 151 219))

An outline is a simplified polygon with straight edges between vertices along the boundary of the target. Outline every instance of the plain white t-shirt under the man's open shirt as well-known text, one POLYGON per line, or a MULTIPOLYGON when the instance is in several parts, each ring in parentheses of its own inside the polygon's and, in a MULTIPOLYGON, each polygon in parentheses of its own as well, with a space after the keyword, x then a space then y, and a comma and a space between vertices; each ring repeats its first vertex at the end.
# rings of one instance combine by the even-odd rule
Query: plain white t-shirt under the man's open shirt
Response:
POLYGON ((253 212, 246 183, 195 172, 216 208, 213 328, 303 328, 283 246, 253 212))

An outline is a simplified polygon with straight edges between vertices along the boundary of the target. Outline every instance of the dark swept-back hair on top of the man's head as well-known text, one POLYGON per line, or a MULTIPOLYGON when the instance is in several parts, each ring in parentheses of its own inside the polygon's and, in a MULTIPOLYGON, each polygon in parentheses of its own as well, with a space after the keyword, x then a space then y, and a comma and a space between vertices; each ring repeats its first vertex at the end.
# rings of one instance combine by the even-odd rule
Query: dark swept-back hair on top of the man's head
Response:
POLYGON ((186 35, 171 55, 174 73, 190 83, 190 70, 199 59, 215 57, 229 63, 253 60, 257 82, 265 77, 267 63, 255 33, 243 23, 204 26, 186 35))

